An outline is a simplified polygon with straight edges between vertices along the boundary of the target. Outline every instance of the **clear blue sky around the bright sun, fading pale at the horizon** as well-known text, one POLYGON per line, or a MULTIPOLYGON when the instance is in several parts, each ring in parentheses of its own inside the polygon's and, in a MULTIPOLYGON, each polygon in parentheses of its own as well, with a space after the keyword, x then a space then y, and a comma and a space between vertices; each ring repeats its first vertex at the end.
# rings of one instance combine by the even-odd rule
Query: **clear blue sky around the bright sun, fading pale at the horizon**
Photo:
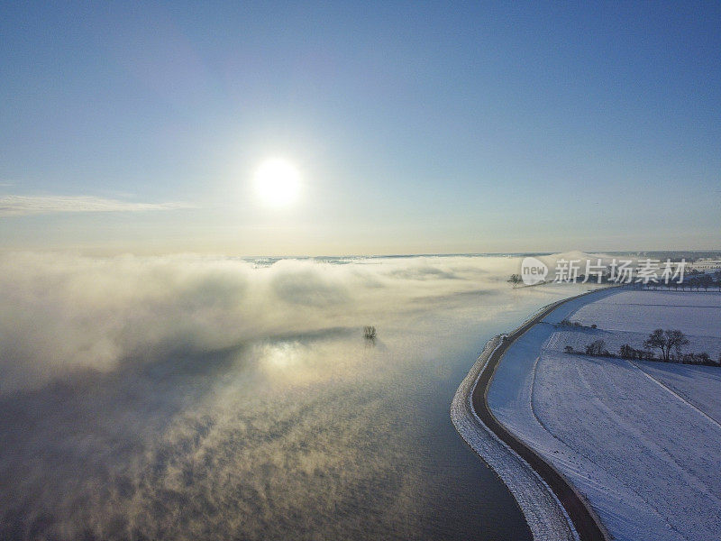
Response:
POLYGON ((2 11, 3 249, 721 247, 717 3, 2 11))

